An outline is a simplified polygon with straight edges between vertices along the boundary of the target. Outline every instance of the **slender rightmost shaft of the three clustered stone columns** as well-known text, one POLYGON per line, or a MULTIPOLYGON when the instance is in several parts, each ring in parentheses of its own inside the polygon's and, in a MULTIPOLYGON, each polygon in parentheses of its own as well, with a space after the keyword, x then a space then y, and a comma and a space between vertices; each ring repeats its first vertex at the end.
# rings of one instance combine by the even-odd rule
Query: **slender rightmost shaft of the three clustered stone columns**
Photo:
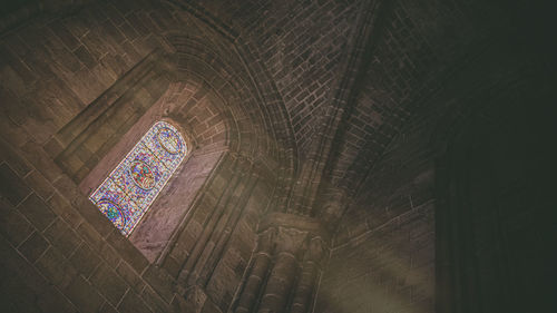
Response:
POLYGON ((291 313, 306 313, 311 306, 315 280, 320 271, 321 258, 324 255, 324 243, 321 237, 313 237, 307 244, 302 274, 292 301, 291 313))

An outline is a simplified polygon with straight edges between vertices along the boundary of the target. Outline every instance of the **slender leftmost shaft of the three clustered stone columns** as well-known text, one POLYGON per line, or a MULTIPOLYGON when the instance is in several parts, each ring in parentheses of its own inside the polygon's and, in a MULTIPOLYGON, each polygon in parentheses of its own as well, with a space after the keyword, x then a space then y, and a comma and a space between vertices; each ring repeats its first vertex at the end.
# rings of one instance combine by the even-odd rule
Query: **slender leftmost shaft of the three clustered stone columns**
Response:
POLYGON ((252 312, 252 307, 268 271, 275 233, 275 228, 268 228, 261 233, 257 238, 257 252, 254 256, 250 276, 246 278, 242 295, 240 296, 236 313, 252 312))

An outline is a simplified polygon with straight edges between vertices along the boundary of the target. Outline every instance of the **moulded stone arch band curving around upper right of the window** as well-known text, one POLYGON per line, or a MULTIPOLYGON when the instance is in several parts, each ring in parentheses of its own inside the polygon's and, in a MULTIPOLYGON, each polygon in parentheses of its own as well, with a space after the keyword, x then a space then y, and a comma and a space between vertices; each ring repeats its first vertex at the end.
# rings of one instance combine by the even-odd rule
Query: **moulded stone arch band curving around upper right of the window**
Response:
POLYGON ((299 157, 292 126, 281 113, 284 104, 272 80, 264 72, 254 74, 250 66, 256 62, 245 63, 243 59, 251 56, 229 43, 213 43, 183 32, 168 32, 166 41, 175 53, 177 79, 193 75, 215 90, 225 119, 236 129, 231 133, 231 150, 281 169, 277 187, 284 196, 273 207, 284 211, 299 157))

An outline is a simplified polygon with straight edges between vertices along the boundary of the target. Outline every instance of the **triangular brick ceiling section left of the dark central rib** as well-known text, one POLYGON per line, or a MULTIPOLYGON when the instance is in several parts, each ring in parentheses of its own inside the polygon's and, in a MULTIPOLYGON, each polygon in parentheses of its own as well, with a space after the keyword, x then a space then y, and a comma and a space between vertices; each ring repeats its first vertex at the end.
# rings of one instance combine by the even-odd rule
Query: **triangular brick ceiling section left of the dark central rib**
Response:
POLYGON ((193 1, 246 43, 273 78, 302 155, 323 117, 351 52, 361 1, 193 1))

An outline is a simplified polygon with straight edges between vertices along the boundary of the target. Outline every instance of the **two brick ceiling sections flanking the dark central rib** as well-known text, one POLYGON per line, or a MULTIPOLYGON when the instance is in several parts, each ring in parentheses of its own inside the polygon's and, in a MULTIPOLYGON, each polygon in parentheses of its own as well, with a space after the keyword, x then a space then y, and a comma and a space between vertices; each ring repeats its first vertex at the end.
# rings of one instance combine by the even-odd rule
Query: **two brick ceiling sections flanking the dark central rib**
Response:
MULTIPOLYGON (((124 2, 119 6, 129 7, 124 2)), ((496 4, 479 0, 394 4, 380 0, 170 0, 163 6, 187 8, 236 49, 245 49, 240 55, 253 59, 244 62, 261 65, 277 91, 273 105, 285 109, 290 130, 280 131, 291 137, 297 173, 302 173, 294 180, 319 185, 310 187, 313 192, 300 192, 315 196, 317 188, 353 193, 361 187, 365 173, 412 113, 427 105, 423 100, 473 49, 482 47, 486 30, 497 29, 492 21, 506 22, 496 18, 496 4), (374 10, 373 19, 362 19, 367 10, 374 10), (371 31, 359 39, 363 28, 371 31), (354 56, 361 57, 354 61, 354 56), (354 76, 358 81, 342 85, 354 76), (343 91, 351 96, 339 99, 343 91), (331 123, 333 118, 339 121, 331 123), (304 170, 320 174, 304 176, 304 170)), ((266 114, 278 114, 267 107, 266 114)))

